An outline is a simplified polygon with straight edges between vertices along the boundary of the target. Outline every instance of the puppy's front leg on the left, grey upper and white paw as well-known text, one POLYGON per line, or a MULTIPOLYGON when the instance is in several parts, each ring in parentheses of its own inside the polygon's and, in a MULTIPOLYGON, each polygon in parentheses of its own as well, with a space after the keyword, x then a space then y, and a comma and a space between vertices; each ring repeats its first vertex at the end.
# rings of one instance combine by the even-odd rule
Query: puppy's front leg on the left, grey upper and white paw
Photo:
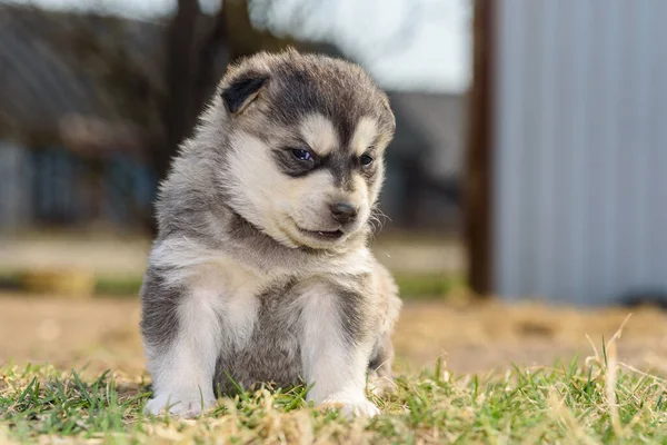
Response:
POLYGON ((153 398, 145 411, 193 417, 215 404, 220 322, 210 293, 168 286, 149 270, 141 291, 141 328, 153 398))

